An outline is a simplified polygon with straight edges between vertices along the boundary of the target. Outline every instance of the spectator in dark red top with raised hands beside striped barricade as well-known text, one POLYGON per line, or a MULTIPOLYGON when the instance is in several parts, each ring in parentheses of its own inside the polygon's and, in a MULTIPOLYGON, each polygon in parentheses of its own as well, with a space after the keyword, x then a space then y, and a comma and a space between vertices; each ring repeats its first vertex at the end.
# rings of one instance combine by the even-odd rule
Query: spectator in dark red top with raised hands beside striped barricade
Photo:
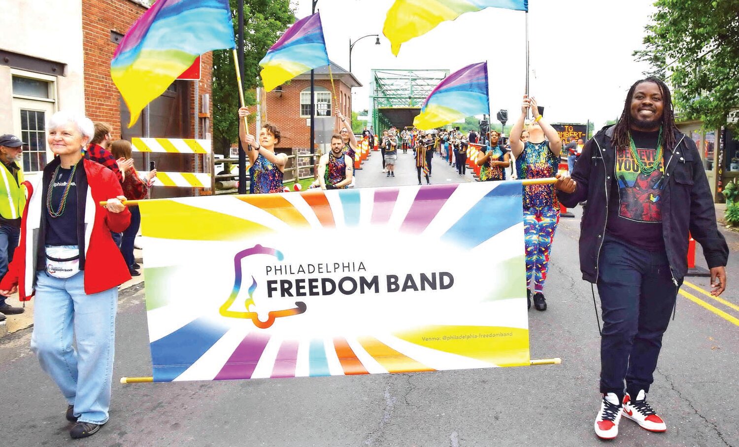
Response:
MULTIPOLYGON (((154 182, 154 177, 157 177, 157 170, 153 168, 154 162, 149 163, 151 169, 142 179, 134 168, 131 142, 116 140, 110 145, 110 152, 118 160, 118 166, 123 169, 125 174, 121 186, 126 200, 142 200, 149 197, 149 188, 151 183, 154 182)), ((140 266, 134 258, 134 241, 141 225, 141 212, 137 206, 132 206, 129 211, 131 211, 131 225, 126 228, 126 231, 123 231, 123 237, 120 239, 120 253, 123 254, 123 259, 126 261, 126 265, 129 266, 131 276, 139 276, 141 273, 136 270, 140 266)))

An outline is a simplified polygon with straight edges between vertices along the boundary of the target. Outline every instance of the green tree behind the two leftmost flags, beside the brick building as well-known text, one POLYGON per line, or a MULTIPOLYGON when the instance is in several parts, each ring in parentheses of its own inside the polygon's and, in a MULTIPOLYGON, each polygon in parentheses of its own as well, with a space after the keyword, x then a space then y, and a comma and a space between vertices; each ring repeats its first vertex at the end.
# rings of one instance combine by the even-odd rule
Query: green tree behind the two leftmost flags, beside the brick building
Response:
MULTIPOLYGON (((238 33, 236 11, 238 0, 230 0, 234 17, 234 33, 238 33)), ((254 89, 261 67, 259 61, 277 41, 280 33, 295 21, 290 0, 246 0, 244 4, 244 65, 242 78, 245 83, 245 100, 256 103, 254 89)), ((236 86, 233 52, 213 52, 213 140, 219 153, 228 151, 231 143, 239 138, 239 89, 236 86)))

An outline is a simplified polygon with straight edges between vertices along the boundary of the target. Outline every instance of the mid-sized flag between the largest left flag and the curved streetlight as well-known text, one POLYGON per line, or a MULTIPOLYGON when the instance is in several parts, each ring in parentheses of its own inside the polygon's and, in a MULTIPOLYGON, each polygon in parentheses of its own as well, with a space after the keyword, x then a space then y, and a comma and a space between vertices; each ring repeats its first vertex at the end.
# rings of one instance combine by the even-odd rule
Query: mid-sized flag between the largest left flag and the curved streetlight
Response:
POLYGON ((268 92, 297 75, 328 64, 320 13, 296 21, 259 61, 268 92))

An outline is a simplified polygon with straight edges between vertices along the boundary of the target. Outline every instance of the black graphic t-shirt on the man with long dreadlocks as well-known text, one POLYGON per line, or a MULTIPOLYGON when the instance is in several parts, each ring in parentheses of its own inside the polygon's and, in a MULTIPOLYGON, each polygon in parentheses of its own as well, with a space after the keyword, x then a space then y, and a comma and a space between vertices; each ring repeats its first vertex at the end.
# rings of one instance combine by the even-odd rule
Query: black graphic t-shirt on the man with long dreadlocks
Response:
MULTIPOLYGON (((636 153, 646 167, 655 163, 658 132, 631 131, 636 153)), ((662 191, 664 157, 658 168, 645 175, 630 149, 616 150, 613 188, 608 199, 606 231, 642 248, 664 248, 662 238, 662 191)))

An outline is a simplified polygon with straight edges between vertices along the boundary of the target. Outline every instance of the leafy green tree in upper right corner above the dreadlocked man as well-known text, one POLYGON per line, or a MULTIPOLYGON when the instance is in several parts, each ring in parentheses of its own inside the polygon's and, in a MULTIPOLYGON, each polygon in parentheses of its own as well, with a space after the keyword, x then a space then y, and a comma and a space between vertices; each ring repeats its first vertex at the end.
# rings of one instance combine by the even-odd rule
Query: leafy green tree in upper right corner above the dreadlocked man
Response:
POLYGON ((638 61, 647 75, 669 70, 675 107, 688 119, 717 129, 739 106, 739 0, 658 0, 638 61), (667 61, 670 61, 667 64, 667 61))

